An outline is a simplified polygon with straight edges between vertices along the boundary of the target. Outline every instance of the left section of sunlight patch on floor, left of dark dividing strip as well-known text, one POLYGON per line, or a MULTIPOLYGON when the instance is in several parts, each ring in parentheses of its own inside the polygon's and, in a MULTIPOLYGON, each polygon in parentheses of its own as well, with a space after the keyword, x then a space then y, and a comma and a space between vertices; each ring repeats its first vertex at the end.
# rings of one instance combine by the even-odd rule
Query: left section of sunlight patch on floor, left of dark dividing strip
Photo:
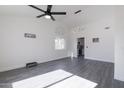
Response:
POLYGON ((43 88, 52 83, 60 81, 72 74, 64 70, 56 70, 32 78, 12 83, 13 88, 43 88))

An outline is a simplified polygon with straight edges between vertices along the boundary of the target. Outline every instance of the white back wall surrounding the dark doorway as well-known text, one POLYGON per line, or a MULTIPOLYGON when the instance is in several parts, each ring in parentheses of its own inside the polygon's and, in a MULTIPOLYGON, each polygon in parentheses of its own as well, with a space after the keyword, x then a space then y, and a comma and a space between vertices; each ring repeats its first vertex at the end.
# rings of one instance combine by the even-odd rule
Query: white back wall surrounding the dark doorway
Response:
POLYGON ((77 38, 85 37, 85 58, 114 62, 114 27, 113 18, 107 17, 72 29, 72 51, 77 55, 77 38), (105 27, 110 29, 105 29, 105 27), (99 37, 99 43, 92 38, 99 37), (88 47, 88 48, 86 48, 88 47))

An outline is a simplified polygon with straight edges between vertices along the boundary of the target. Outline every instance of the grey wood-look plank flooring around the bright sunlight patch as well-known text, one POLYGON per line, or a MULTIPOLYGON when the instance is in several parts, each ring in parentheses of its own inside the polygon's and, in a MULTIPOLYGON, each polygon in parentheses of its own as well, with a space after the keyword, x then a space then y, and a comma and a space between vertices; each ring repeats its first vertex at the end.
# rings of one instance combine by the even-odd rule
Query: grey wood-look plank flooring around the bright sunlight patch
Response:
POLYGON ((33 76, 63 69, 74 75, 98 83, 96 88, 123 88, 124 83, 114 80, 114 64, 83 58, 64 58, 41 63, 36 67, 0 72, 0 88, 11 88, 11 83, 33 76))

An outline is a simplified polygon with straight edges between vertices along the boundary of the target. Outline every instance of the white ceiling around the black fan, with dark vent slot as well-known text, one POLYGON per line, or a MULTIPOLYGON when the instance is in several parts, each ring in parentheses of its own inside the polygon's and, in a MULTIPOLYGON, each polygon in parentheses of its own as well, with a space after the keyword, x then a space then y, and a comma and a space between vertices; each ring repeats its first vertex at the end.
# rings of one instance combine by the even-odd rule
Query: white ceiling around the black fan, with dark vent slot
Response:
MULTIPOLYGON (((46 10, 46 5, 38 5, 37 7, 46 10)), ((80 24, 101 19, 105 16, 112 16, 114 6, 100 5, 54 5, 52 11, 67 12, 67 15, 54 16, 56 21, 66 24, 68 27, 73 27, 80 24), (74 14, 75 11, 82 10, 79 14, 74 14)), ((0 16, 18 16, 18 17, 36 17, 42 12, 25 5, 1 5, 0 16)), ((44 19, 44 18, 40 18, 44 19)), ((42 20, 41 20, 42 21, 42 20)))

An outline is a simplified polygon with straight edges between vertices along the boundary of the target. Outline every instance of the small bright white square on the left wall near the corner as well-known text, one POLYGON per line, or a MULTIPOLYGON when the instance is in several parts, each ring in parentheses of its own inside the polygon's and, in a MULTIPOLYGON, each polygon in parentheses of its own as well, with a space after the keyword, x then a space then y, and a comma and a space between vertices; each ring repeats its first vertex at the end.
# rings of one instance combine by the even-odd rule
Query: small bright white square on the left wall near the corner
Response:
POLYGON ((63 38, 56 38, 55 39, 55 49, 56 50, 65 49, 65 40, 63 38))

